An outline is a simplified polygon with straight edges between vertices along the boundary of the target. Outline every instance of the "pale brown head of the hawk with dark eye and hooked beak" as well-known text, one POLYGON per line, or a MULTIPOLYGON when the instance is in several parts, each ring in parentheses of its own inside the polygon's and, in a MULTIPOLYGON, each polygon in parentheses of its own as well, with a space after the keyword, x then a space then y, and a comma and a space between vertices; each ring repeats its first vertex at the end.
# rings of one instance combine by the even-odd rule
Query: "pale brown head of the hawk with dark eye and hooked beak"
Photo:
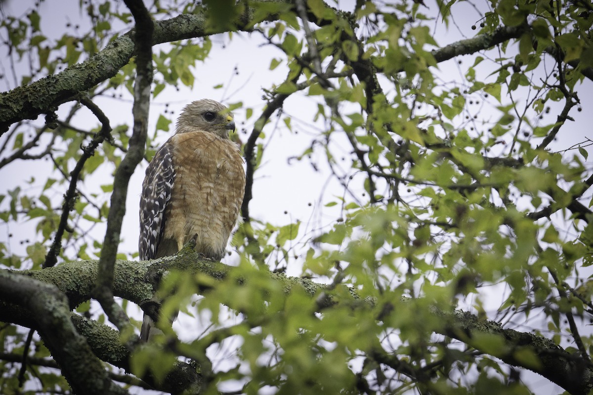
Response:
POLYGON ((218 101, 202 99, 193 101, 177 118, 176 133, 203 130, 228 139, 229 131, 235 130, 231 110, 218 101))

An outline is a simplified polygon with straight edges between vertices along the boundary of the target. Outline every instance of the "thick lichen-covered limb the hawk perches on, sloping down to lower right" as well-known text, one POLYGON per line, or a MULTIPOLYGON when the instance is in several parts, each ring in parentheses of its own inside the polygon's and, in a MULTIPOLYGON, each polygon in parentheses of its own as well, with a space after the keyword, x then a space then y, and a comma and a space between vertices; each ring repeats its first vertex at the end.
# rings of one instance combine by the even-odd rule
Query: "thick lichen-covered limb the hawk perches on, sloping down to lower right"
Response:
MULTIPOLYGON (((224 280, 228 275, 231 275, 232 271, 238 268, 219 262, 202 261, 194 252, 162 258, 157 261, 117 261, 114 271, 113 293, 116 296, 124 297, 142 305, 152 297, 152 293, 158 288, 158 282, 160 282, 162 275, 167 271, 171 271, 171 269, 184 271, 188 275, 200 273, 214 280, 224 280)), ((96 273, 97 261, 79 261, 41 271, 24 271, 20 275, 16 273, 11 275, 17 277, 17 280, 18 277, 22 276, 55 284, 60 291, 69 297, 72 306, 90 298, 90 290, 93 288, 96 273)), ((368 309, 374 306, 372 301, 359 300, 349 289, 347 291, 349 291, 350 297, 345 297, 344 292, 339 292, 340 298, 326 292, 326 297, 323 300, 317 300, 322 291, 326 290, 326 286, 315 284, 305 278, 286 277, 275 273, 269 273, 269 276, 271 281, 279 281, 286 293, 289 293, 294 287, 304 288, 307 294, 316 298, 318 311, 334 306, 336 303, 346 303, 355 309, 368 309)), ((195 276, 195 278, 200 288, 199 293, 206 292, 216 286, 216 282, 212 283, 212 280, 199 280, 204 276, 195 276)), ((248 281, 248 278, 240 281, 248 281)), ((17 321, 15 317, 21 317, 23 320, 27 319, 23 317, 23 314, 19 315, 15 311, 12 303, 14 299, 7 300, 3 294, 0 293, 0 295, 2 295, 0 320, 15 322, 17 321)), ((232 306, 229 307, 232 308, 232 306)), ((397 304, 397 309, 406 308, 406 303, 397 304)), ((593 388, 593 367, 586 364, 586 361, 580 355, 566 352, 549 339, 531 333, 503 329, 499 323, 478 319, 470 313, 461 311, 444 313, 440 310, 432 312, 442 318, 442 320, 439 320, 442 323, 433 328, 435 333, 451 336, 485 354, 500 358, 508 364, 537 372, 565 388, 571 394, 584 395, 589 392, 589 389, 593 388), (482 336, 482 339, 483 336, 496 336, 501 339, 505 346, 493 351, 487 348, 487 342, 479 341, 480 336, 482 336), (534 355, 535 359, 521 358, 522 355, 524 356, 527 353, 534 355), (534 360, 536 363, 533 363, 534 360)), ((410 314, 412 313, 410 311, 410 314)), ((28 319, 31 320, 30 317, 28 319)), ((15 323, 22 325, 23 320, 18 320, 15 323)), ((95 338, 97 336, 90 337, 95 338)), ((114 335, 114 338, 116 337, 114 335)), ((103 341, 98 344, 104 346, 103 341)), ((92 343, 91 346, 93 346, 92 343)), ((101 346, 97 346, 97 348, 101 348, 101 346)))

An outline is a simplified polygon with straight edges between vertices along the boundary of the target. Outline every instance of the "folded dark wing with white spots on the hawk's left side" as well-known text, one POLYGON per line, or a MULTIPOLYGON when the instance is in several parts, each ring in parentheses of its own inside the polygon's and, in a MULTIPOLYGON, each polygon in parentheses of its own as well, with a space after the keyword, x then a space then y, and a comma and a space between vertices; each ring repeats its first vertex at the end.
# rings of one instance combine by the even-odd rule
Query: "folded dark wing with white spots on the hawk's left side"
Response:
POLYGON ((167 140, 146 168, 140 197, 140 259, 154 259, 165 226, 165 208, 175 181, 173 146, 167 140))

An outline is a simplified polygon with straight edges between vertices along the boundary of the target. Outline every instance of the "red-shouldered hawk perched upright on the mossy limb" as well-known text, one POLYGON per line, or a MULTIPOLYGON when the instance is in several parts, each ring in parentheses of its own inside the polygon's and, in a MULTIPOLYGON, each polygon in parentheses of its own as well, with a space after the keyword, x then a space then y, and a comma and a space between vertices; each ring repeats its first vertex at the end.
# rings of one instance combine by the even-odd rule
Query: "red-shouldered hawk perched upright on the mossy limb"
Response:
MULTIPOLYGON (((245 192, 243 158, 228 136, 234 129, 231 111, 219 102, 203 99, 183 109, 142 183, 141 260, 174 255, 196 234, 197 252, 222 258, 245 192)), ((153 318, 144 314, 144 341, 153 318)))

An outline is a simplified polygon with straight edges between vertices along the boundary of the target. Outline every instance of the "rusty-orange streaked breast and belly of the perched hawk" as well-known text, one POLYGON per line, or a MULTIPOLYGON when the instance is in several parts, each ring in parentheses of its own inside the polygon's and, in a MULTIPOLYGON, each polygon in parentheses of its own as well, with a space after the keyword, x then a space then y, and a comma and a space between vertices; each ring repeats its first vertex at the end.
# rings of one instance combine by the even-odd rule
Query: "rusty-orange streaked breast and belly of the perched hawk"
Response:
POLYGON ((243 158, 228 139, 202 131, 173 136, 175 181, 164 237, 220 259, 239 216, 245 192, 243 158))

